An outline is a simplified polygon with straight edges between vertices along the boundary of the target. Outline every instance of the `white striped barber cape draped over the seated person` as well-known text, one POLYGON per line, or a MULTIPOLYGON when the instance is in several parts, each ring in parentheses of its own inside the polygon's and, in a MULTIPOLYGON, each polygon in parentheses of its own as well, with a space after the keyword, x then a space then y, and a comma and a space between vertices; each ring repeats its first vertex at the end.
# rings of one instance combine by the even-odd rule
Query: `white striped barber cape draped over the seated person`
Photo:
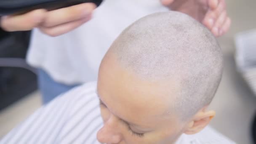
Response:
MULTIPOLYGON (((58 96, 14 128, 0 144, 100 144, 103 126, 96 82, 58 96)), ((195 135, 181 135, 176 144, 235 144, 210 127, 195 135)))

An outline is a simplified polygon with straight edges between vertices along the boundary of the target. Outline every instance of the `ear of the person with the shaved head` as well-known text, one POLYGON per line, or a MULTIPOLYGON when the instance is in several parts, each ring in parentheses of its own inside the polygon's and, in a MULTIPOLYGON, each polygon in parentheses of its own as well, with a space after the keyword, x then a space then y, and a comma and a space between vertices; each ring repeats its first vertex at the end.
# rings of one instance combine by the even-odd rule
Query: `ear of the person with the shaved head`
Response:
POLYGON ((210 123, 215 114, 215 111, 201 110, 200 112, 197 112, 193 119, 188 123, 187 130, 184 133, 191 135, 203 130, 203 128, 210 123))

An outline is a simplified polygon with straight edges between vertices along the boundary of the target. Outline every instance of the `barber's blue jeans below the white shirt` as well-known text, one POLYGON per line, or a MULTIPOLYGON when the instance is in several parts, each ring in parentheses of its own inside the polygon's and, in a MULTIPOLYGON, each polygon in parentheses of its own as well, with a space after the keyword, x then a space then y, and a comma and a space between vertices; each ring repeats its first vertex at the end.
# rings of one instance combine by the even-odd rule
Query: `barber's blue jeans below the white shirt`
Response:
POLYGON ((43 104, 47 104, 49 101, 59 96, 59 94, 69 91, 77 86, 58 83, 42 69, 38 69, 38 85, 42 93, 43 104))

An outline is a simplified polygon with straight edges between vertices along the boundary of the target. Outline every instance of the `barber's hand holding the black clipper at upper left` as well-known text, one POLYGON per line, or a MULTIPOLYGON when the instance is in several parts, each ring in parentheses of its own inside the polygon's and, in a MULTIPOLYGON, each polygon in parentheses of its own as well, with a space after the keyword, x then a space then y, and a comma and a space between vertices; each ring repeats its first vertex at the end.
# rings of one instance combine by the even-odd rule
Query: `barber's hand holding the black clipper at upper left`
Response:
POLYGON ((94 3, 83 3, 53 11, 38 9, 22 15, 3 16, 0 27, 9 32, 38 27, 43 33, 54 37, 89 21, 95 8, 94 3))

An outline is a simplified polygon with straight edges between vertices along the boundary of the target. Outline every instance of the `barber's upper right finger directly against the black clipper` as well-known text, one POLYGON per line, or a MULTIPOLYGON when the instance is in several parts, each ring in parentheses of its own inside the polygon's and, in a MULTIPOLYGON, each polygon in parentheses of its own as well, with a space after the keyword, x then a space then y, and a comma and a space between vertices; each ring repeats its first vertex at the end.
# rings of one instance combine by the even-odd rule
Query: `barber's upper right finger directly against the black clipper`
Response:
MULTIPOLYGON (((90 16, 96 8, 94 3, 83 3, 79 5, 49 11, 43 22, 43 27, 54 27, 90 16)), ((62 28, 61 28, 62 29, 62 28)))

